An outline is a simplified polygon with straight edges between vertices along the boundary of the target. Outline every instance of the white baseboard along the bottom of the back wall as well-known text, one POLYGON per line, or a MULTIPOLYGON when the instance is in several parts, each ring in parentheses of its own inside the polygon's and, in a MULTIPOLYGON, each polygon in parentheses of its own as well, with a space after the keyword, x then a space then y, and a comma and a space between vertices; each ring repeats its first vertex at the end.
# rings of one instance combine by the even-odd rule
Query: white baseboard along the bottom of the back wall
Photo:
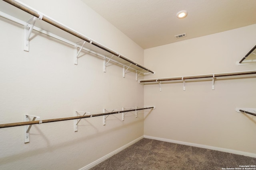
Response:
POLYGON ((146 136, 146 135, 144 135, 144 138, 154 139, 154 140, 164 141, 164 142, 170 142, 170 143, 177 143, 177 144, 181 144, 181 145, 188 145, 188 146, 192 146, 192 147, 218 150, 218 151, 221 151, 221 152, 228 152, 228 153, 232 153, 232 154, 240 154, 240 155, 250 156, 250 157, 256 158, 255 153, 242 152, 242 151, 238 151, 238 150, 224 149, 224 148, 218 148, 218 147, 211 147, 211 146, 207 146, 207 145, 200 145, 200 144, 196 144, 196 143, 175 141, 175 140, 171 140, 171 139, 164 139, 164 138, 152 137, 152 136, 146 136))

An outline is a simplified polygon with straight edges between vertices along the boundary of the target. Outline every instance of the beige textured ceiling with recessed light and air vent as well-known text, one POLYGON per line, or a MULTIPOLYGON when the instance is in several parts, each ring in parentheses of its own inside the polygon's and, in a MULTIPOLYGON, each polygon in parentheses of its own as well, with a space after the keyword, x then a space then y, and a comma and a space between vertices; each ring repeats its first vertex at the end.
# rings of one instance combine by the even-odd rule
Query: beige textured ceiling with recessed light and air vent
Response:
POLYGON ((143 49, 256 23, 256 0, 82 1, 143 49), (176 18, 181 10, 188 11, 184 19, 176 18))

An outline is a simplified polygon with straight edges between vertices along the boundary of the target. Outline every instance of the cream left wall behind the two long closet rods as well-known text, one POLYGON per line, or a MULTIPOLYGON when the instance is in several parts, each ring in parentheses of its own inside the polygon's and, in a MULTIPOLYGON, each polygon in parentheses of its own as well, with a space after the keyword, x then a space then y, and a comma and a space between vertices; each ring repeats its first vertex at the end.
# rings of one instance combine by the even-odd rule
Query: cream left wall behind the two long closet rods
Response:
MULTIPOLYGON (((143 64, 144 50, 80 0, 22 0, 118 53, 143 64)), ((5 3, 5 2, 4 2, 5 3)), ((103 59, 82 52, 73 64, 74 47, 33 32, 23 51, 23 27, 0 18, 0 124, 22 122, 24 114, 40 119, 72 117, 74 111, 143 106, 143 85, 135 73, 122 77, 122 66, 103 72, 103 59)), ((30 143, 24 127, 0 129, 0 169, 80 169, 144 134, 143 111, 33 125, 30 143)))

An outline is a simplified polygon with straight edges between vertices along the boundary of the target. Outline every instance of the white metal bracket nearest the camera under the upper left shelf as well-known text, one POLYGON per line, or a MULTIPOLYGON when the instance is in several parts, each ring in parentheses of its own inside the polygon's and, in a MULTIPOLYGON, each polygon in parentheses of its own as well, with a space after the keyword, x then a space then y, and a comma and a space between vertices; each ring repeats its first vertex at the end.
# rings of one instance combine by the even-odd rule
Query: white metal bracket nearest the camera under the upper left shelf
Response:
POLYGON ((24 51, 29 51, 29 37, 36 23, 36 17, 30 18, 24 25, 24 51), (31 22, 31 24, 30 24, 31 22))

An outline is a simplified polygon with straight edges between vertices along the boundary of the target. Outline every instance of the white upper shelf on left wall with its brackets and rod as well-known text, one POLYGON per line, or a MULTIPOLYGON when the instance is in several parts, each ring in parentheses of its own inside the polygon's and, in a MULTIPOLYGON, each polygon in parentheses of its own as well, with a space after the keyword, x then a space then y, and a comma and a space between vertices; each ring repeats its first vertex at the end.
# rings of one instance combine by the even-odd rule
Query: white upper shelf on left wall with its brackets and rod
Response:
POLYGON ((24 25, 24 51, 29 51, 29 37, 32 29, 74 45, 77 53, 74 56, 74 64, 77 64, 81 49, 104 58, 104 72, 109 61, 123 65, 124 75, 128 69, 139 74, 154 74, 155 72, 138 64, 120 53, 89 39, 77 31, 53 20, 52 18, 34 10, 26 4, 16 0, 2 0, 0 2, 0 16, 8 20, 24 25), (6 3, 7 2, 7 3, 6 3))

